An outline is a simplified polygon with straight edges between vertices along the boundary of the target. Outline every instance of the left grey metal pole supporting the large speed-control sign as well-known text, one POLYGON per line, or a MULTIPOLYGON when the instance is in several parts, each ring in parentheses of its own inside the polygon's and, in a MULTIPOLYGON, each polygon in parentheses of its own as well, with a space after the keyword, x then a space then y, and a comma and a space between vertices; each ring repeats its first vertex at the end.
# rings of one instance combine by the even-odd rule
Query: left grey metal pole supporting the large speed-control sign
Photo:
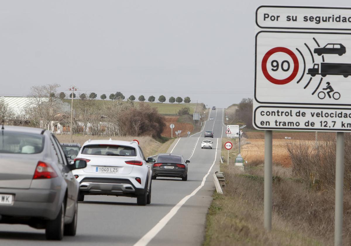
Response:
POLYGON ((272 131, 264 131, 264 228, 272 229, 272 131))

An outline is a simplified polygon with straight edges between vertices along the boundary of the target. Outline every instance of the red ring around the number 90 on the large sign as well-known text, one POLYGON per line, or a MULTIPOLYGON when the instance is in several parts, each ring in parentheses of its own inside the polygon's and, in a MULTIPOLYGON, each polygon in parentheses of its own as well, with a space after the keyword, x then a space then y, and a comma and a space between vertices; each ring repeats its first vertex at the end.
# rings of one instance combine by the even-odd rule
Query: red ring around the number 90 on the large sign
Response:
MULTIPOLYGON (((272 71, 277 71, 278 70, 278 67, 279 67, 279 63, 278 61, 274 60, 272 62, 272 71), (276 62, 275 64, 273 62, 276 62)), ((269 50, 263 57, 262 59, 262 64, 261 64, 261 67, 262 67, 262 72, 263 72, 263 75, 266 77, 266 79, 268 79, 271 83, 273 84, 276 84, 276 85, 285 85, 289 82, 291 82, 297 75, 297 72, 299 71, 299 61, 296 57, 296 55, 294 54, 294 52, 292 52, 291 50, 289 50, 288 48, 285 48, 285 47, 275 47, 275 48, 272 48, 271 50, 269 50), (294 69, 291 73, 291 75, 285 79, 276 79, 276 78, 273 78, 267 71, 267 61, 268 59, 270 58, 270 56, 272 56, 272 54, 274 53, 277 53, 277 52, 283 52, 283 53, 286 53, 288 54, 293 63, 294 63, 294 69)), ((282 63, 281 63, 281 69, 283 71, 288 71, 290 68, 290 64, 284 60, 282 63), (286 62, 289 66, 288 66, 288 69, 284 69, 284 62, 286 62)))

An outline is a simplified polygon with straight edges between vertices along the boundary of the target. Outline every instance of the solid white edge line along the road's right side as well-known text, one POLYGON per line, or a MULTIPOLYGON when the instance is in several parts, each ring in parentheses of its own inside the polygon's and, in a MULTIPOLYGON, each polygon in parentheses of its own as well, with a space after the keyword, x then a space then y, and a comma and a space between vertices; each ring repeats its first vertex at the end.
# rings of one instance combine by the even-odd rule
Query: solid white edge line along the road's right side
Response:
MULTIPOLYGON (((217 138, 217 147, 218 147, 218 138, 217 138)), ((217 149, 216 147, 216 149, 217 149)), ((207 176, 210 174, 212 167, 214 166, 214 163, 216 163, 216 158, 217 158, 217 150, 216 154, 214 155, 214 161, 210 169, 208 169, 207 174, 204 176, 202 179, 202 182, 199 187, 194 189, 194 191, 190 194, 185 196, 183 199, 181 199, 176 206, 174 206, 168 214, 166 214, 150 231, 148 231, 139 241, 137 241, 134 246, 146 246, 164 227, 165 225, 173 218, 174 215, 178 212, 178 210, 185 204, 189 198, 194 196, 202 187, 205 185, 205 181, 207 176)))

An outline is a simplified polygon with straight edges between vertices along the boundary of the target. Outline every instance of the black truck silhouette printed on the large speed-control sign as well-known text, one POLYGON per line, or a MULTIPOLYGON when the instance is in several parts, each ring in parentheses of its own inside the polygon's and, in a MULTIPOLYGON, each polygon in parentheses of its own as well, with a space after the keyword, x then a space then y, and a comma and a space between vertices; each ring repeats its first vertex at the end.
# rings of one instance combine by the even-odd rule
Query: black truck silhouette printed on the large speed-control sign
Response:
POLYGON ((347 63, 321 63, 320 71, 319 64, 314 64, 313 68, 307 71, 307 74, 312 77, 316 75, 322 75, 325 77, 327 75, 343 75, 345 78, 351 75, 351 64, 347 63))

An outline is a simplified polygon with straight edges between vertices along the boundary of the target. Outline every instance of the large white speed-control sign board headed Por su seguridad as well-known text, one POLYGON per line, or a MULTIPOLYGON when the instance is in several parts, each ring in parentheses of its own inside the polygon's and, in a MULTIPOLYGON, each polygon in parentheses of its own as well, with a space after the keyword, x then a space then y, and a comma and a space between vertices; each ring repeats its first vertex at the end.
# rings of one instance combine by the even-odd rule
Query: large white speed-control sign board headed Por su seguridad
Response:
POLYGON ((255 128, 351 131, 350 15, 350 8, 257 9, 255 128))

